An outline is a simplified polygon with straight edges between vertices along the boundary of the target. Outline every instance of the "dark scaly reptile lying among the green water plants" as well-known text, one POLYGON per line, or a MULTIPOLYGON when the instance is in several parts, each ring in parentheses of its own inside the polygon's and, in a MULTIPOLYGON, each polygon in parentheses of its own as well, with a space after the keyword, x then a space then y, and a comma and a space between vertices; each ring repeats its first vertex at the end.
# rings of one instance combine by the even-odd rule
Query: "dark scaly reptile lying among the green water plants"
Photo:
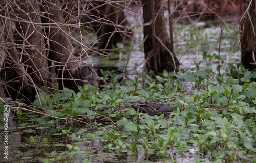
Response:
POLYGON ((133 103, 131 103, 131 106, 135 110, 139 109, 139 111, 145 111, 148 115, 155 115, 158 112, 172 112, 173 111, 173 107, 168 107, 166 104, 158 104, 158 103, 153 103, 153 102, 149 102, 149 101, 146 101, 145 103, 133 102, 133 103), (148 107, 147 105, 155 108, 156 110, 153 110, 152 108, 148 107))

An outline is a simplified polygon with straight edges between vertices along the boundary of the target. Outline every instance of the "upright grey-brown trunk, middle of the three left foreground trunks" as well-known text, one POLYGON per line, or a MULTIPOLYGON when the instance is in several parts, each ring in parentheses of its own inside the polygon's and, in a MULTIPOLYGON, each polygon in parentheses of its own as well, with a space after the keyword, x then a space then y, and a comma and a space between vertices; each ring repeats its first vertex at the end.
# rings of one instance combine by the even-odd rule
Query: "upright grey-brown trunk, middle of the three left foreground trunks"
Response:
MULTIPOLYGON (((33 82, 37 86, 47 86, 49 81, 49 71, 47 64, 45 41, 41 25, 40 4, 36 0, 22 0, 22 9, 27 13, 23 18, 28 22, 22 23, 23 38, 24 38, 24 64, 29 66, 29 73, 33 82)), ((31 81, 32 82, 32 81, 31 81)))

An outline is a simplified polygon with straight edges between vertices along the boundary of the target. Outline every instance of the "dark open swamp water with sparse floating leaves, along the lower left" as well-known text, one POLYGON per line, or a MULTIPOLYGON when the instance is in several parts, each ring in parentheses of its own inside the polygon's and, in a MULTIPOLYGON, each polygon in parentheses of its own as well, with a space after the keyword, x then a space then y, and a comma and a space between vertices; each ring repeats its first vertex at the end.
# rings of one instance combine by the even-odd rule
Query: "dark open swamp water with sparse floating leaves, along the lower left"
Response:
MULTIPOLYGON (((65 126, 59 125, 54 120, 49 121, 45 117, 33 113, 24 113, 24 120, 9 117, 8 160, 0 162, 194 162, 197 159, 204 160, 207 155, 195 155, 199 149, 186 147, 188 152, 178 154, 170 151, 169 158, 145 157, 144 151, 138 151, 138 156, 129 156, 127 151, 112 153, 104 150, 105 140, 97 137, 102 134, 101 129, 93 130, 86 125, 79 125, 76 135, 80 135, 79 141, 74 141, 80 150, 71 152, 66 146, 70 144, 68 137, 62 132, 65 126), (90 134, 92 133, 92 135, 90 134)), ((3 116, 1 116, 3 118, 3 116)), ((1 127, 1 132, 3 127, 1 127)), ((125 131, 124 131, 125 132, 125 131)), ((161 133, 166 134, 166 133, 161 133)), ((1 138, 1 142, 3 138, 1 138)), ((4 150, 1 143, 0 150, 4 150)), ((175 149, 174 149, 175 150, 175 149)), ((3 153, 2 153, 3 154, 3 153)), ((1 157, 4 156, 1 154, 1 157)), ((208 160, 209 158, 205 159, 208 160)))

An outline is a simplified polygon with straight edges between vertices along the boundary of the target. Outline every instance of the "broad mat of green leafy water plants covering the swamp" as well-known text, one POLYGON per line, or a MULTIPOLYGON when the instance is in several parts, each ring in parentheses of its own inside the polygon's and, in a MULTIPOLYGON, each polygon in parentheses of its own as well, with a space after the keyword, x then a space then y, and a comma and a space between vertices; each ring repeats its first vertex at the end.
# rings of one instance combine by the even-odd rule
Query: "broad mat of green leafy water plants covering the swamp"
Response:
MULTIPOLYGON (((78 93, 44 90, 33 105, 51 117, 37 121, 68 127, 59 133, 68 143, 66 151, 42 161, 254 162, 256 72, 241 64, 230 64, 226 71, 215 74, 197 66, 160 76, 142 74, 142 80, 121 85, 102 70, 108 89, 85 85, 78 93), (133 101, 166 103, 174 112, 140 113, 131 107, 133 101)), ((22 111, 17 114, 22 119, 22 111)), ((50 142, 43 138, 42 144, 50 142)))

